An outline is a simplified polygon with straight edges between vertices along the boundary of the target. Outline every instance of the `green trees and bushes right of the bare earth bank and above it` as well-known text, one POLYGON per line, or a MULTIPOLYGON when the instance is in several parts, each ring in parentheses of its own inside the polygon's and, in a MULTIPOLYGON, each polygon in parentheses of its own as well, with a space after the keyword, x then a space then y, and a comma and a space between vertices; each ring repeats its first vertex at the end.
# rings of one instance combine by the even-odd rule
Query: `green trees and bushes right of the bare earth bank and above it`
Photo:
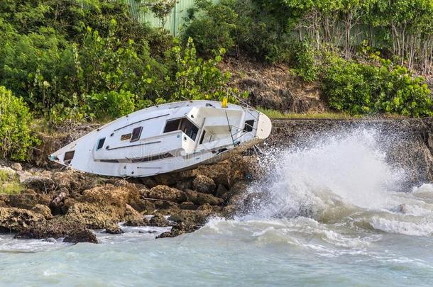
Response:
POLYGON ((351 115, 431 116, 433 1, 199 0, 185 38, 321 81, 329 106, 351 115), (385 59, 378 57, 385 55, 385 59))

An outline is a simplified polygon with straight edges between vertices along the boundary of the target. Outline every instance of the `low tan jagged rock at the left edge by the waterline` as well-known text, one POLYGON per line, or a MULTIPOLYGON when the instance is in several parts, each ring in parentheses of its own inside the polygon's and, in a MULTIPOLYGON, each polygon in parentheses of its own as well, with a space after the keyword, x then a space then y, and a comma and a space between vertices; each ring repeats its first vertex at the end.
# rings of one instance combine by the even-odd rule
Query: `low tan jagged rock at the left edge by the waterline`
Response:
POLYGON ((45 222, 43 215, 31 210, 0 208, 0 232, 19 232, 40 222, 45 222))

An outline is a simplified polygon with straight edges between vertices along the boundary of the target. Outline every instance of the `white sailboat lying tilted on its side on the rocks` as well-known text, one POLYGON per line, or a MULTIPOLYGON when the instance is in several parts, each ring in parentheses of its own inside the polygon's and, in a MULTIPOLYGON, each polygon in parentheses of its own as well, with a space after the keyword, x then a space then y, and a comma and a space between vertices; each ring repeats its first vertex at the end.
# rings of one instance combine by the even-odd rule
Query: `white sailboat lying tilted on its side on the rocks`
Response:
POLYGON ((224 159, 270 135, 253 108, 217 101, 152 106, 108 123, 50 155, 73 169, 106 176, 152 176, 224 159))

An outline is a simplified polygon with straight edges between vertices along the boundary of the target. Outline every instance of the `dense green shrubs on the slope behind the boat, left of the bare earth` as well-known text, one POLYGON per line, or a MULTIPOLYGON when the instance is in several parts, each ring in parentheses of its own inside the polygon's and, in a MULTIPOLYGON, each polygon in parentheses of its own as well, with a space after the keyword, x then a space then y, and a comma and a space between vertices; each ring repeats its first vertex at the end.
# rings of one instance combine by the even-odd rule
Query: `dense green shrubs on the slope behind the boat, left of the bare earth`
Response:
MULTIPOLYGON (((202 60, 192 40, 136 23, 123 1, 84 2, 0 4, 0 84, 38 116, 108 120, 165 101, 241 96, 217 67, 224 49, 202 60)), ((152 7, 163 17, 170 5, 152 7)))

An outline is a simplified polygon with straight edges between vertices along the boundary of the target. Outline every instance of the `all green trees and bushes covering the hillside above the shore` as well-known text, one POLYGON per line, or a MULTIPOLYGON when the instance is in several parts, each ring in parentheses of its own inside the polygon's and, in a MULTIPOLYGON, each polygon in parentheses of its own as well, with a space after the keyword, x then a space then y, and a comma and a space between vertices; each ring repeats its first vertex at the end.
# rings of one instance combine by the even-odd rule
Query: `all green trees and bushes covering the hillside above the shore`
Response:
MULTIPOLYGON (((175 1, 141 4, 164 22, 175 1)), ((220 68, 228 55, 287 64, 344 115, 432 115, 417 76, 433 73, 431 0, 196 0, 188 12, 177 39, 123 0, 0 1, 0 155, 28 158, 32 115, 110 120, 168 101, 236 102, 247 94, 220 68)))

